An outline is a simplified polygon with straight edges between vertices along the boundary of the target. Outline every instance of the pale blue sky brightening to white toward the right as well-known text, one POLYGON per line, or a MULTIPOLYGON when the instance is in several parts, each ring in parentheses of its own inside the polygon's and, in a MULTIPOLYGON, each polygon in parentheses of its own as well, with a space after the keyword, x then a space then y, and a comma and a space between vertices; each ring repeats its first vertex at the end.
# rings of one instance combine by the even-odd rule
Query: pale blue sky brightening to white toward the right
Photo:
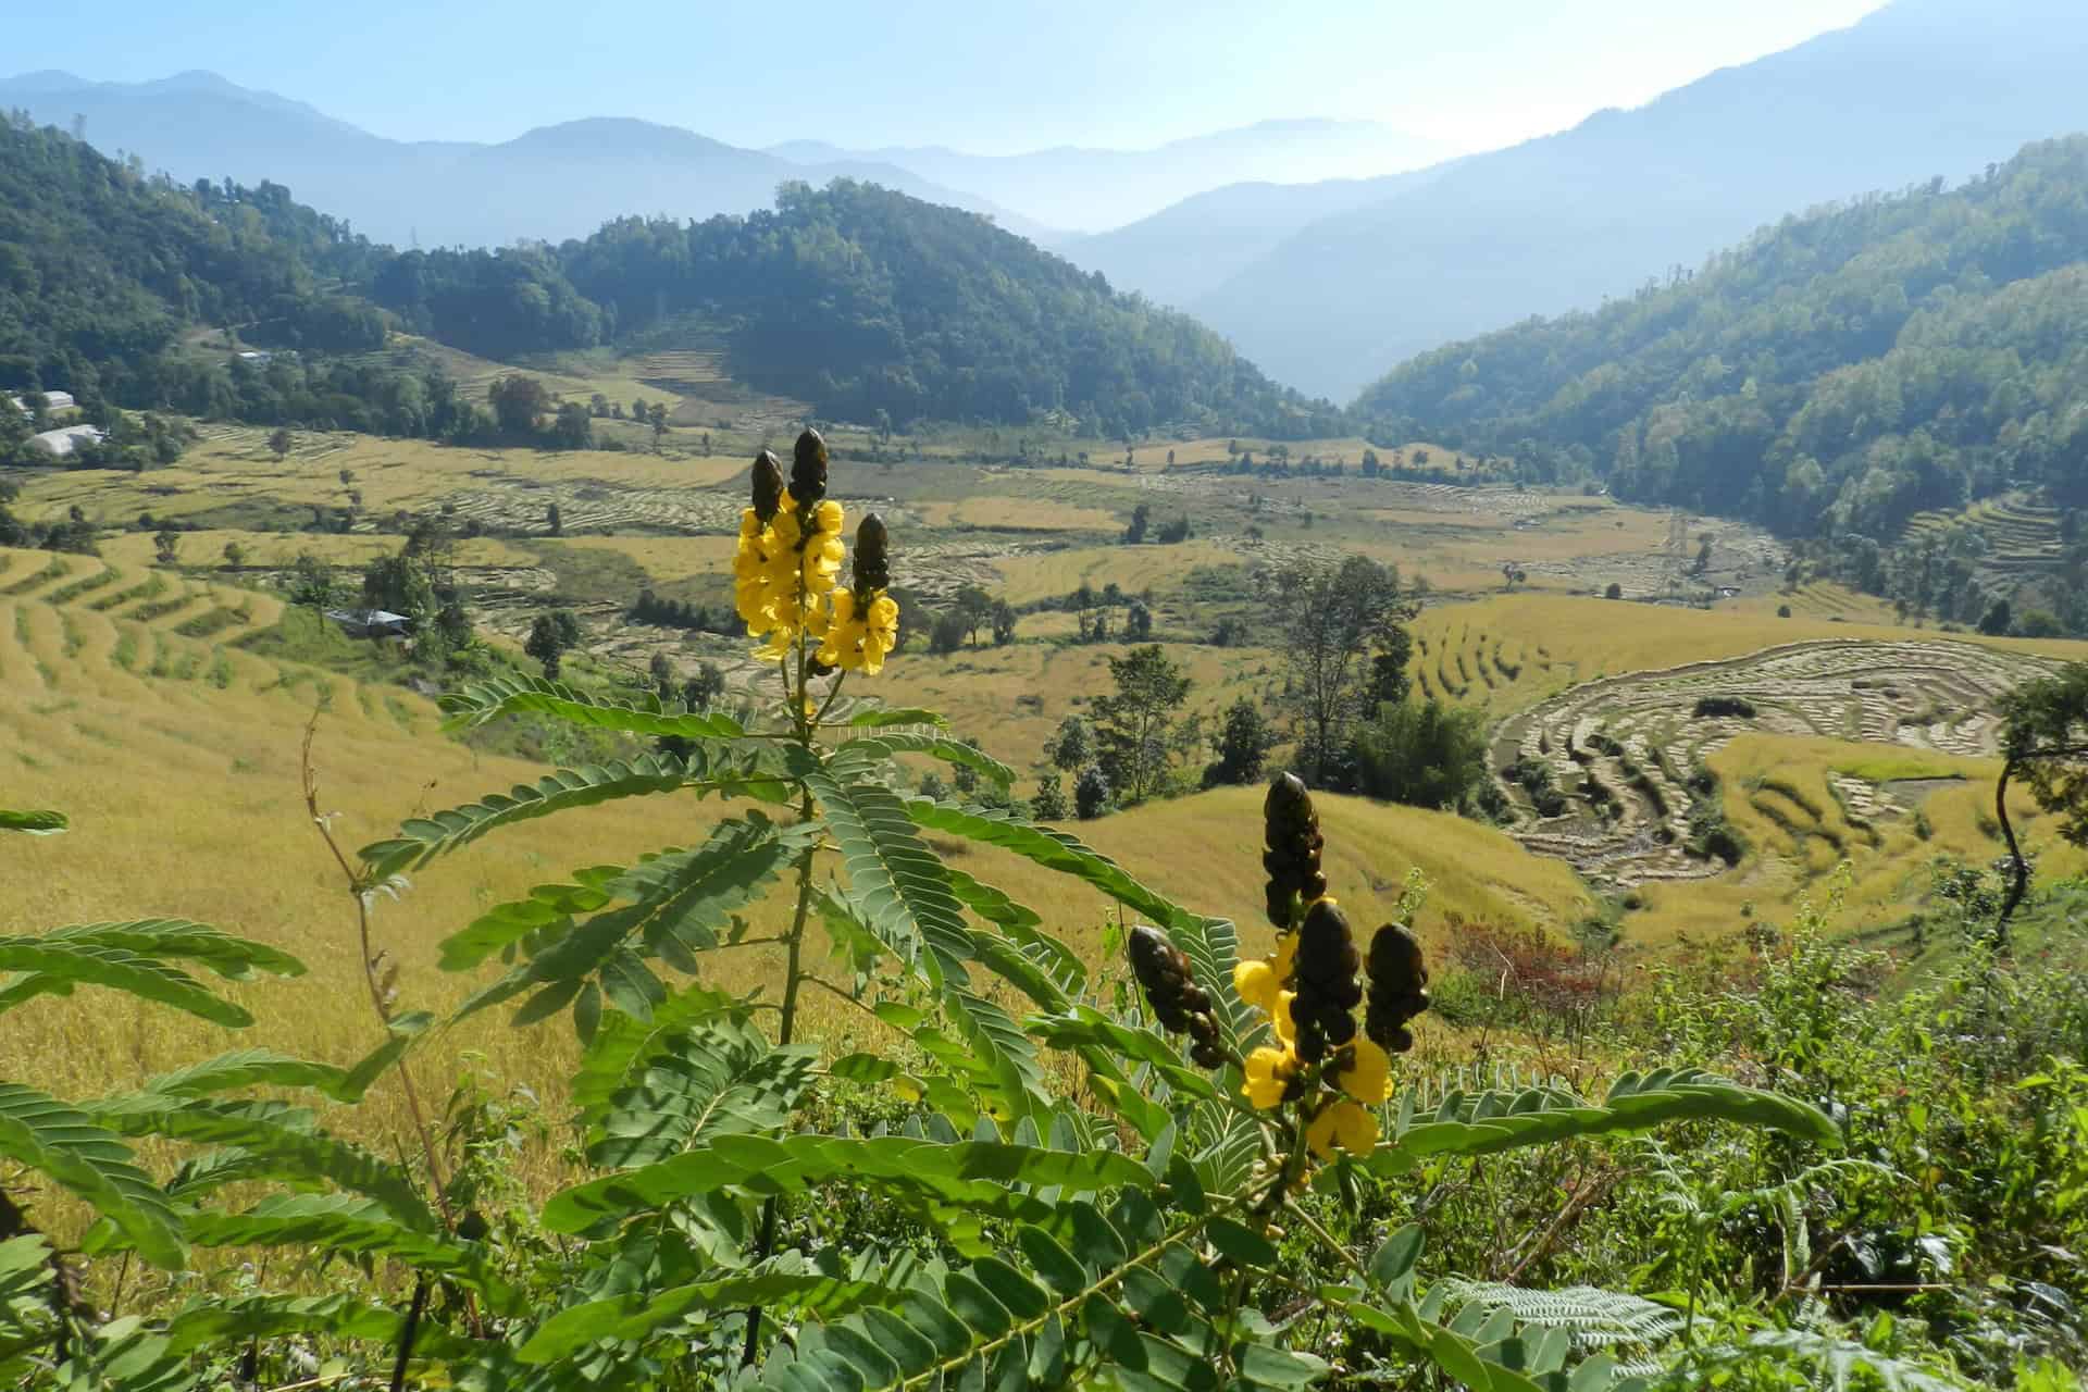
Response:
POLYGON ((1881 0, 102 0, 8 71, 213 69, 393 138, 587 115, 733 144, 1150 146, 1270 117, 1476 150, 1639 104, 1881 0))

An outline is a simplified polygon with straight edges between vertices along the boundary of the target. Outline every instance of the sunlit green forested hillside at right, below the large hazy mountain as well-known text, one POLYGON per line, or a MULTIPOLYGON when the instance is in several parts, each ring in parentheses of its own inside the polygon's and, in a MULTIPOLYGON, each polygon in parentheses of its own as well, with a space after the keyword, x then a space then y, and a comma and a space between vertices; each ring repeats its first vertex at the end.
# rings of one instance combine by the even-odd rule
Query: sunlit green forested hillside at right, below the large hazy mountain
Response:
POLYGON ((2013 484, 2088 503, 2088 138, 1787 217, 1693 275, 1411 359, 1357 413, 1618 495, 1892 536, 2013 484))

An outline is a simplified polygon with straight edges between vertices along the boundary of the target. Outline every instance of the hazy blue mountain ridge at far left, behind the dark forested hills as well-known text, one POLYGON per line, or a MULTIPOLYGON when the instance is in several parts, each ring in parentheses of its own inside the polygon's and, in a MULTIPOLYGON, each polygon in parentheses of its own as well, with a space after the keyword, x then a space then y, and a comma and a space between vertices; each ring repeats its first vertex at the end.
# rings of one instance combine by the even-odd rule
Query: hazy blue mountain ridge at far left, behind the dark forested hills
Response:
POLYGON ((73 129, 102 152, 138 154, 182 182, 271 179, 299 200, 395 244, 505 244, 587 236, 626 213, 748 213, 777 184, 854 177, 917 198, 988 213, 1023 236, 1048 236, 992 202, 912 171, 837 159, 800 165, 647 121, 591 119, 503 144, 399 142, 215 73, 102 83, 69 73, 0 79, 0 109, 73 129))

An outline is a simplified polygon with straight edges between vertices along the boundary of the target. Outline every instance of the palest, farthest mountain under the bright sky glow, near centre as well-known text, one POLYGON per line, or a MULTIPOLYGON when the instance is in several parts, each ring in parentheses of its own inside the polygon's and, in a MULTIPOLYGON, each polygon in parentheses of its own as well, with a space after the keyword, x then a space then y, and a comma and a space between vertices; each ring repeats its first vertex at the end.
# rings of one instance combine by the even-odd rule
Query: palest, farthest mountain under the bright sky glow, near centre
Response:
POLYGON ((1052 227, 1096 232, 1159 213, 1226 184, 1309 184, 1418 169, 1451 150, 1374 121, 1261 121, 1173 140, 1153 150, 1059 146, 1027 154, 965 154, 944 146, 844 150, 816 140, 768 148, 796 163, 877 161, 967 188, 1052 227))

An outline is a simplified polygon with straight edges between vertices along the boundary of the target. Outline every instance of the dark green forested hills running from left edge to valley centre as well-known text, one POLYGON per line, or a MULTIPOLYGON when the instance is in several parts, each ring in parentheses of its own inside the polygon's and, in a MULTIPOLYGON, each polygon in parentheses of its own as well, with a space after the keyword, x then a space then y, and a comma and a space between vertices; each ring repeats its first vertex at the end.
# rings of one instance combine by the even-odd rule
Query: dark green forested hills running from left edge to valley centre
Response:
POLYGON ((480 430, 447 382, 357 359, 388 326, 499 361, 722 334, 737 376, 844 419, 1023 424, 1057 409, 1109 436, 1176 422, 1313 436, 1340 422, 1196 321, 979 215, 869 184, 787 184, 775 211, 622 219, 562 248, 395 253, 278 184, 180 186, 0 121, 0 386, 271 424, 480 430), (198 326, 303 359, 242 371, 182 349, 198 326))

